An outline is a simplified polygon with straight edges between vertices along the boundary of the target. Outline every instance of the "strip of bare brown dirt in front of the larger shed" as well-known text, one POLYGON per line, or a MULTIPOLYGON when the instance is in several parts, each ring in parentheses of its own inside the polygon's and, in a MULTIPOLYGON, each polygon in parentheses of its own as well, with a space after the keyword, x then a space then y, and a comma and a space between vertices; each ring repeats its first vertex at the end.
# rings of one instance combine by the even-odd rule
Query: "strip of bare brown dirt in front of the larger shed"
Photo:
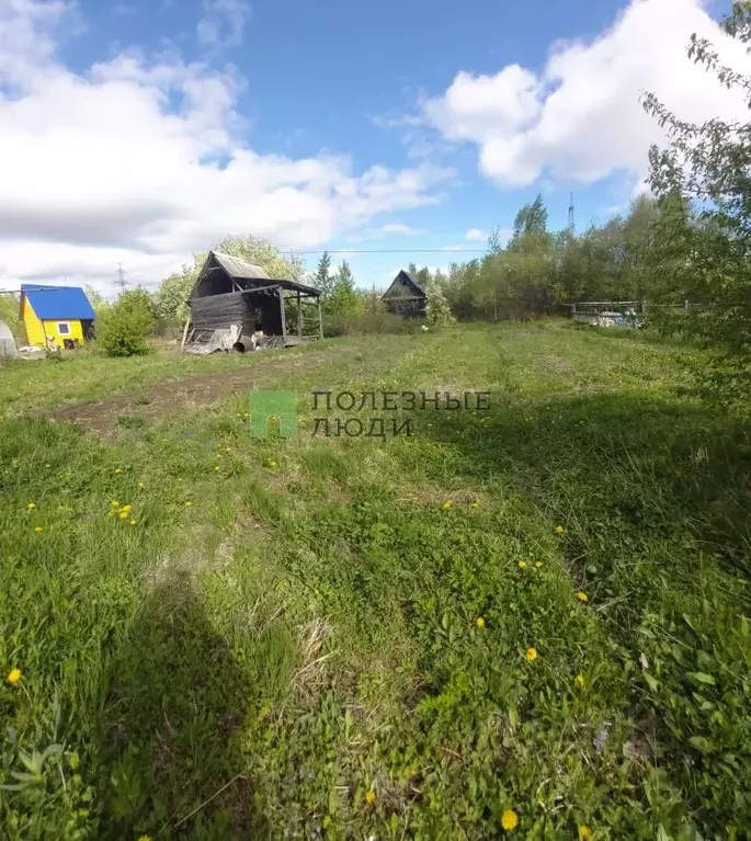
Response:
POLYGON ((269 384, 280 375, 295 376, 321 365, 330 364, 340 355, 357 352, 348 344, 320 352, 295 353, 280 351, 273 356, 249 360, 247 368, 221 371, 216 374, 161 380, 143 388, 123 391, 103 400, 65 406, 46 413, 46 417, 65 423, 75 423, 100 436, 107 436, 117 429, 117 418, 141 418, 156 423, 168 414, 207 406, 232 394, 249 391, 269 384))

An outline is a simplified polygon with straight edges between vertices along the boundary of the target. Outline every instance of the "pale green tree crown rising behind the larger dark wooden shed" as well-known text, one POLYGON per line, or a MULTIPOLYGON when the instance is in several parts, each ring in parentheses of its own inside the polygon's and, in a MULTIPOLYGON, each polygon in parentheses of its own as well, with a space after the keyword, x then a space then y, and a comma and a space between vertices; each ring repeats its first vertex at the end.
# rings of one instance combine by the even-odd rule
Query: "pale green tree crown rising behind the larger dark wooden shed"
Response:
MULTIPOLYGON (((282 254, 275 246, 259 237, 227 236, 212 250, 223 251, 260 265, 274 280, 299 281, 305 271, 301 258, 282 254)), ((207 251, 201 251, 193 254, 192 265, 183 265, 180 271, 173 272, 161 282, 153 296, 155 315, 160 321, 166 323, 185 321, 189 312, 187 298, 207 253, 207 251)))

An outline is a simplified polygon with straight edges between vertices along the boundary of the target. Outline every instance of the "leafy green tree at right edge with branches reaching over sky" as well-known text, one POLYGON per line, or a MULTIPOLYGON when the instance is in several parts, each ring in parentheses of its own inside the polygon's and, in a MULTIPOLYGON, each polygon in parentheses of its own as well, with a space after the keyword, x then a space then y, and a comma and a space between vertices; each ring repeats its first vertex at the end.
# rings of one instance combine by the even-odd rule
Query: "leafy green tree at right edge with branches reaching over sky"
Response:
MULTIPOLYGON (((735 2, 722 25, 748 44, 751 3, 735 2)), ((751 106, 751 76, 724 65, 695 34, 687 53, 751 106)), ((651 93, 644 106, 672 138, 649 151, 649 184, 660 203, 652 271, 662 305, 650 319, 712 349, 710 385, 742 397, 751 383, 751 124, 687 123, 651 93), (692 308, 682 310, 684 302, 692 308)))

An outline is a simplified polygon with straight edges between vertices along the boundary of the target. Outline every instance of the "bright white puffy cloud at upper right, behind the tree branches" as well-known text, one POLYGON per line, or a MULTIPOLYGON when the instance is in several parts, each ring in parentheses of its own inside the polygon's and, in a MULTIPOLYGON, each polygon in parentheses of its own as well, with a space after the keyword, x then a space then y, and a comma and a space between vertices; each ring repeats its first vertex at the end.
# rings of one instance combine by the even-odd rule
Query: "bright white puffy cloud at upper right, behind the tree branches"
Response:
POLYGON ((664 133, 639 98, 655 92, 681 118, 748 118, 736 93, 693 65, 693 32, 741 71, 751 69, 703 0, 631 0, 592 42, 558 43, 539 73, 509 65, 494 76, 460 72, 421 114, 446 139, 476 144, 481 171, 500 185, 547 175, 591 183, 615 171, 644 178, 647 149, 664 133))

